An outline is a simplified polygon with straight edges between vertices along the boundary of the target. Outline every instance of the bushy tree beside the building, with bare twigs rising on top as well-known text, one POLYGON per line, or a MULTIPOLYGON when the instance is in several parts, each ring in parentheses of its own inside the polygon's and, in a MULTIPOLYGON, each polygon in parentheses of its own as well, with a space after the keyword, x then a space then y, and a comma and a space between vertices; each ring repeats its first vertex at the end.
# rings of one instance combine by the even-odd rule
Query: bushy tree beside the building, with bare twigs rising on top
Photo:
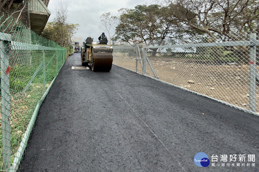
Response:
POLYGON ((70 46, 71 37, 79 27, 78 24, 68 24, 67 20, 67 5, 60 2, 57 16, 53 22, 47 23, 41 36, 53 40, 61 46, 70 46))

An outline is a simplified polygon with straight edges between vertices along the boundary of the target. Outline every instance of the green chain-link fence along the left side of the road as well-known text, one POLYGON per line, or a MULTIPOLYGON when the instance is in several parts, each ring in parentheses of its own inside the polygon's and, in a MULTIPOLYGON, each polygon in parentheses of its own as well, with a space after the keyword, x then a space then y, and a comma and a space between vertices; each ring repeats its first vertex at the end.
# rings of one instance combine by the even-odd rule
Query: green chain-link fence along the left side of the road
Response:
POLYGON ((0 17, 1 109, 3 171, 16 171, 37 111, 68 55, 64 47, 0 17))

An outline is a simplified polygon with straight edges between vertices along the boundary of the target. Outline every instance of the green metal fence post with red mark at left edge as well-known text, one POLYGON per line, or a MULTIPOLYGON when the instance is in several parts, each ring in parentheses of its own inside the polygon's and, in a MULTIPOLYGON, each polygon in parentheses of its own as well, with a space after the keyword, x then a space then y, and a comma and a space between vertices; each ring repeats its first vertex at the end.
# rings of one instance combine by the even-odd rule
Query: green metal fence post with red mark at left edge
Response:
MULTIPOLYGON (((4 35, 2 33, 2 35, 4 35)), ((10 35, 5 34, 5 37, 10 35)), ((11 39, 9 40, 11 41, 11 39)), ((11 166, 11 129, 10 129, 10 80, 9 80, 9 52, 8 41, 0 38, 1 51, 1 96, 2 96, 2 144, 3 144, 3 170, 11 166)))

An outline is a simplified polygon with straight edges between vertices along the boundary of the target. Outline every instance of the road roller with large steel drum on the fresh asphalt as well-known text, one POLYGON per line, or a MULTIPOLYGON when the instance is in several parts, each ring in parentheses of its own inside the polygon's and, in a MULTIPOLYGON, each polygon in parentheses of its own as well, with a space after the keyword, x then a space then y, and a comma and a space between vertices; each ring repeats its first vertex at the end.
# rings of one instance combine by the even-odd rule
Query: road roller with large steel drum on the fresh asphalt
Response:
POLYGON ((88 66, 92 71, 110 71, 112 67, 112 46, 107 45, 107 38, 94 42, 88 37, 81 48, 81 65, 88 66))

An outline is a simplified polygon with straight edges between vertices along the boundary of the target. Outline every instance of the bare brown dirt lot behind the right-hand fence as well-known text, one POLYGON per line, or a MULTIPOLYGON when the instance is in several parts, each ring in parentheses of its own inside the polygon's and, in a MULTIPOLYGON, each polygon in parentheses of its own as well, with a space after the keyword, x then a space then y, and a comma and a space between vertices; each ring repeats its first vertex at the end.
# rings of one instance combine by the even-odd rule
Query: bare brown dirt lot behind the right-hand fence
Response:
MULTIPOLYGON (((136 58, 114 53, 114 65, 136 71, 136 58)), ((150 58, 160 80, 249 109, 249 66, 202 64, 190 59, 150 58)), ((257 69, 258 70, 258 69, 257 69)), ((138 73, 142 73, 140 62, 138 73)), ((147 63, 147 75, 154 77, 147 63)), ((256 104, 259 104, 256 86, 256 104)), ((259 112, 259 109, 257 109, 259 112)))

